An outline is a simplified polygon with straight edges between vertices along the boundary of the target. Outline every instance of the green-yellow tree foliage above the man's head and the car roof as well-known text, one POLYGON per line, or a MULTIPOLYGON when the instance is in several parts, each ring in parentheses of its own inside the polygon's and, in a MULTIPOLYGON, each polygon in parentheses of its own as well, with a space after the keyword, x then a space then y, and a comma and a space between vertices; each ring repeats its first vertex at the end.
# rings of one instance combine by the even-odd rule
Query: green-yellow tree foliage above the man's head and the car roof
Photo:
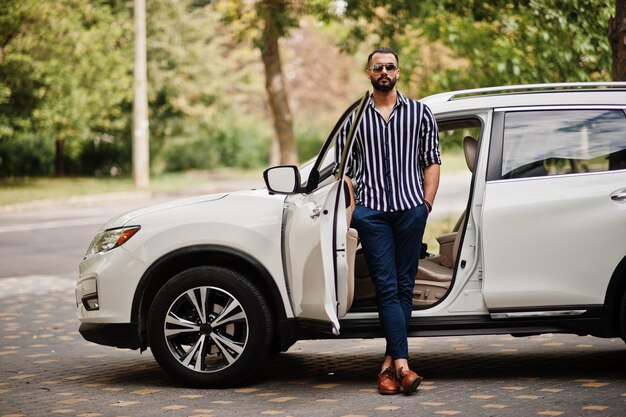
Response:
POLYGON ((401 64, 408 75, 401 80, 419 97, 489 85, 608 80, 612 1, 352 0, 346 15, 353 22, 350 39, 386 43, 412 57, 401 64))

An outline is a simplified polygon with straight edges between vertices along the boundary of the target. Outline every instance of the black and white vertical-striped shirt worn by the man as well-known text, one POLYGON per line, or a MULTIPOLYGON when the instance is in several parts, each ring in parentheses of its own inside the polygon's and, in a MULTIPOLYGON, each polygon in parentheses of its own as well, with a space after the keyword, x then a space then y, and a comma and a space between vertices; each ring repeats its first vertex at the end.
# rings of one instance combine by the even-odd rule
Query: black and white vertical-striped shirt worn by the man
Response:
MULTIPOLYGON (((379 211, 408 210, 423 204, 424 168, 441 164, 435 117, 426 105, 399 92, 388 122, 376 110, 373 97, 365 106, 345 172, 355 183, 357 203, 379 211)), ((336 161, 341 158, 351 121, 338 137, 336 161)))

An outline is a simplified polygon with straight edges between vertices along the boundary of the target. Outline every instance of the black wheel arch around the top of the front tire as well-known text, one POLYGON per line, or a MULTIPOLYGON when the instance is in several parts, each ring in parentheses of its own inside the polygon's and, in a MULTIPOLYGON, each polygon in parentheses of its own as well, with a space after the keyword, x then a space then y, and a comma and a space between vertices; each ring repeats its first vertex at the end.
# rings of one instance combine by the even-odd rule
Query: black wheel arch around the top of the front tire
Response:
POLYGON ((131 322, 137 323, 141 349, 147 347, 148 312, 157 292, 174 275, 202 265, 223 266, 246 276, 266 298, 276 319, 275 332, 278 333, 278 323, 286 319, 286 312, 284 307, 281 308, 283 300, 269 271, 254 257, 237 249, 219 245, 194 245, 163 255, 139 280, 133 298, 131 322))

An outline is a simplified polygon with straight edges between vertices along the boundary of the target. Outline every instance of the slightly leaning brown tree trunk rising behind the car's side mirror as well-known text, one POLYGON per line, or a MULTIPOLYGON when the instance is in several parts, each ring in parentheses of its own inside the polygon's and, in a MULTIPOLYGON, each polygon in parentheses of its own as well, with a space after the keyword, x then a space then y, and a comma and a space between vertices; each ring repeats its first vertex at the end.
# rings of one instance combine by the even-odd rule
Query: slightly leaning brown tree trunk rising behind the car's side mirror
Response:
POLYGON ((284 0, 264 1, 265 27, 261 56, 265 67, 265 89, 274 119, 274 130, 280 147, 281 164, 297 164, 296 139, 293 133, 293 118, 287 100, 287 87, 278 49, 279 30, 274 19, 284 12, 284 0))

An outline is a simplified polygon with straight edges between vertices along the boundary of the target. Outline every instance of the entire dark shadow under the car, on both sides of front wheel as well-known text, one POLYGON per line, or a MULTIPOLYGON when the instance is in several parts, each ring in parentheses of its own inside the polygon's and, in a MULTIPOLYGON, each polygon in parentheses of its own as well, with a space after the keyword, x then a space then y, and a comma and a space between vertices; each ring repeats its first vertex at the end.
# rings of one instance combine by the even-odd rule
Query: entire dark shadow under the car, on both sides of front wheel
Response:
MULTIPOLYGON (((619 342, 618 342, 619 343, 619 342)), ((311 346, 315 346, 314 344, 311 346)), ((148 353, 148 352, 146 352, 148 353)), ((90 367, 94 383, 137 385, 138 387, 185 387, 170 378, 151 355, 140 361, 106 361, 103 367, 90 367)), ((263 387, 293 383, 371 385, 379 371, 378 353, 288 351, 268 357, 255 376, 241 386, 263 387)), ((104 365, 104 364, 103 364, 104 365)), ((519 380, 533 378, 616 380, 626 384, 626 345, 621 348, 573 348, 547 351, 475 352, 411 351, 410 365, 428 381, 519 380)))

